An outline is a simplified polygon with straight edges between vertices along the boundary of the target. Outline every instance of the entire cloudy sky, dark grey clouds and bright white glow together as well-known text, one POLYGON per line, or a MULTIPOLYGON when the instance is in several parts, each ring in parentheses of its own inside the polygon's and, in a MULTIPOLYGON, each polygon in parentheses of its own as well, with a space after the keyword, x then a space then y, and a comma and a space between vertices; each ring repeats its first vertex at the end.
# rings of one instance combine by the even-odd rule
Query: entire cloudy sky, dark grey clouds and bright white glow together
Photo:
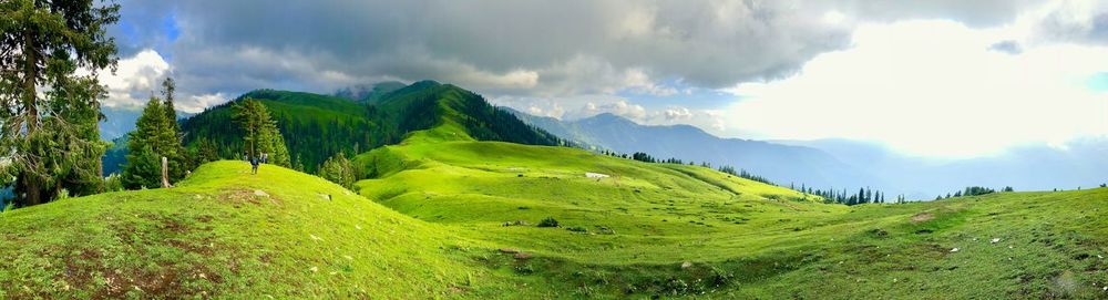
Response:
POLYGON ((110 106, 170 74, 192 112, 254 89, 430 79, 564 120, 929 156, 1108 134, 1108 1, 120 3, 110 106))

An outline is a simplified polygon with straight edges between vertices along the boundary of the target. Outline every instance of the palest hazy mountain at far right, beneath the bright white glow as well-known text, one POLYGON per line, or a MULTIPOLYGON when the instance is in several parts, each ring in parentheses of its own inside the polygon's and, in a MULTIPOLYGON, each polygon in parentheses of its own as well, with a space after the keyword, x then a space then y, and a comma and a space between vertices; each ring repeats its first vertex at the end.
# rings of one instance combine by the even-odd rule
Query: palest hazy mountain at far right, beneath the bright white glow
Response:
POLYGON ((888 188, 915 198, 934 198, 972 185, 1047 190, 1094 187, 1108 182, 1106 137, 1077 141, 1065 148, 1030 145, 962 159, 913 157, 882 145, 845 139, 774 142, 823 149, 884 178, 888 188))

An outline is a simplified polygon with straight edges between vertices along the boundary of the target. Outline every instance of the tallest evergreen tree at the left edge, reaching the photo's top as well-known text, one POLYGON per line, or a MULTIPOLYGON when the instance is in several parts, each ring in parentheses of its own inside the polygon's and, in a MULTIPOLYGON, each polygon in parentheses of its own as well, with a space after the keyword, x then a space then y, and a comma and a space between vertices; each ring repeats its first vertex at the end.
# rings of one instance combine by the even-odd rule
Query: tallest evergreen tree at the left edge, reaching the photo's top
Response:
POLYGON ((0 4, 0 186, 14 184, 17 206, 49 201, 63 189, 101 189, 90 182, 100 176, 94 161, 106 147, 96 133, 105 95, 96 72, 115 65, 106 28, 119 21, 119 4, 101 3, 0 4), (79 76, 78 69, 91 74, 79 76))

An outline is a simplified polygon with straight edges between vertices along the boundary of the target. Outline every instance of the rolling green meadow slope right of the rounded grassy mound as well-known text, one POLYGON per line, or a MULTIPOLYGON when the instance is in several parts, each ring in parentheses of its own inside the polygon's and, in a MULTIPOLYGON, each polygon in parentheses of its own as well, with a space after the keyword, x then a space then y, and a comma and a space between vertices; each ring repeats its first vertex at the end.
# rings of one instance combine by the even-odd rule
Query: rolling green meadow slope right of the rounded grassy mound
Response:
MULTIPOLYGON (((439 128, 451 132, 449 128, 439 128)), ((555 297, 1100 298, 1108 189, 844 207, 691 166, 490 142, 407 143, 359 156, 360 193, 536 258, 513 266, 555 297), (585 172, 613 175, 585 178, 585 172), (564 228, 537 228, 546 216, 564 228), (531 226, 504 226, 523 220, 531 226), (993 244, 993 238, 999 241, 993 244), (953 248, 958 251, 952 252, 953 248), (684 262, 691 262, 683 268, 684 262), (522 263, 522 265, 519 265, 522 263)))

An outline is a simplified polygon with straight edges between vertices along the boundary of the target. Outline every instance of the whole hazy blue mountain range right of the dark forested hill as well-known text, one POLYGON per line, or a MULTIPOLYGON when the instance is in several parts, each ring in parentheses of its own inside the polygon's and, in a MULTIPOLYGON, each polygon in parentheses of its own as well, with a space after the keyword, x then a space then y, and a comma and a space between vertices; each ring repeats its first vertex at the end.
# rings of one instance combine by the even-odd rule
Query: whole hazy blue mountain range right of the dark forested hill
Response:
POLYGON ((592 147, 731 165, 779 185, 873 187, 888 195, 933 199, 966 186, 1048 190, 1095 187, 1108 182, 1108 138, 1071 143, 1066 149, 1027 146, 991 157, 931 159, 847 139, 721 138, 690 125, 642 125, 613 114, 562 121, 502 108, 536 127, 592 147))

